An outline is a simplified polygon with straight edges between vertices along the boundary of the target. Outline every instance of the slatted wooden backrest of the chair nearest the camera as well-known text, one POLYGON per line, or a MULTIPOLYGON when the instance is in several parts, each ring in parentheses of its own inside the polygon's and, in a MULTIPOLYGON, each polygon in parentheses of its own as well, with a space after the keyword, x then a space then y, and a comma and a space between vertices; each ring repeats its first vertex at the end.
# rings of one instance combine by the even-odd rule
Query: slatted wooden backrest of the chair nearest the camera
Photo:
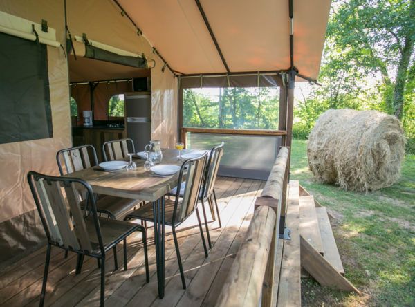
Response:
POLYGON ((68 250, 92 253, 96 246, 94 248, 91 243, 91 230, 87 230, 84 221, 88 213, 89 218, 93 218, 100 251, 104 252, 95 200, 88 183, 78 178, 46 176, 35 171, 28 173, 28 183, 49 243, 68 250), (81 210, 80 190, 86 194, 88 211, 81 210))

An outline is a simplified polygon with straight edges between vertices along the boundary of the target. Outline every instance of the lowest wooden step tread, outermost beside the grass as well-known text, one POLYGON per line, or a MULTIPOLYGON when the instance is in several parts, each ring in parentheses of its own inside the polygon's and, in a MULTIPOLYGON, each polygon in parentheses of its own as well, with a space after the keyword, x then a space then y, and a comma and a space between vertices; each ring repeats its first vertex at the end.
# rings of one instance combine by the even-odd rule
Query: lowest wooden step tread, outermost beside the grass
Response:
POLYGON ((329 261, 331 266, 335 268, 341 275, 344 275, 344 268, 342 259, 340 259, 339 250, 335 243, 333 231, 327 210, 325 207, 315 208, 317 212, 318 225, 320 227, 320 234, 322 236, 324 258, 329 261))

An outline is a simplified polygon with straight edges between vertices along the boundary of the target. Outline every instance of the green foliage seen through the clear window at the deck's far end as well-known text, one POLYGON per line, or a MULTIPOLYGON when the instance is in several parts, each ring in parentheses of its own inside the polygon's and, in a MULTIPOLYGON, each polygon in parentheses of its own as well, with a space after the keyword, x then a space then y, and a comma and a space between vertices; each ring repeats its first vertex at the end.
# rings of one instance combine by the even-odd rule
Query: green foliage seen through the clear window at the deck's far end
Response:
POLYGON ((183 126, 278 129, 278 104, 275 88, 184 89, 183 126))

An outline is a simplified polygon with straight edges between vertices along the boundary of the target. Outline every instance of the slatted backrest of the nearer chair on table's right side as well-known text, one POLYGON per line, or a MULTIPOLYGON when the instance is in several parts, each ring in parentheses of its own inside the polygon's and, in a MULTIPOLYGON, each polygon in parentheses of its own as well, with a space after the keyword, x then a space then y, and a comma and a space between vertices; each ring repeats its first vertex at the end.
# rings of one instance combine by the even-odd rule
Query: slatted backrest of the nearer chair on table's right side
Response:
POLYGON ((208 154, 203 154, 203 156, 186 160, 181 166, 178 187, 182 182, 186 184, 181 201, 179 201, 180 189, 177 189, 172 223, 184 221, 196 209, 207 157, 208 154))

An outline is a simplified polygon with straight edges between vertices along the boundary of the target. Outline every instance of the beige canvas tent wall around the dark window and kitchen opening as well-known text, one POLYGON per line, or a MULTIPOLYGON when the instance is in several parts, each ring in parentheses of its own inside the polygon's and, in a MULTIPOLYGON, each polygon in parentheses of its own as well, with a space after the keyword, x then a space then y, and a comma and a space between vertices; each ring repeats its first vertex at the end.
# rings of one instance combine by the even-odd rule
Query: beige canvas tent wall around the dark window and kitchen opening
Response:
MULTIPOLYGON (((176 140, 177 84, 172 73, 161 72, 160 59, 143 37, 110 0, 70 0, 68 25, 73 35, 86 32, 91 39, 156 60, 152 76, 152 138, 166 147, 176 140)), ((0 0, 0 10, 37 23, 42 19, 57 30, 57 41, 65 46, 64 0, 0 0)), ((48 46, 48 75, 53 138, 0 145, 0 262, 27 252, 44 239, 26 174, 30 170, 58 174, 55 155, 71 147, 71 118, 67 58, 62 48, 48 46)))

